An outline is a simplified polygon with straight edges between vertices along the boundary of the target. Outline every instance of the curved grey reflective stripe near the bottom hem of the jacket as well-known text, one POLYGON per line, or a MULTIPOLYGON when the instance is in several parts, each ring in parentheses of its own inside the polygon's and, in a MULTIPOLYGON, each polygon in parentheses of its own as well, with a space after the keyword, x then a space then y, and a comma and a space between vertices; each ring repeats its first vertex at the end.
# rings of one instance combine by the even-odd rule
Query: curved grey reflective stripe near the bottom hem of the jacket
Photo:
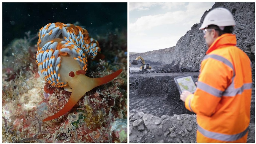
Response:
POLYGON ((203 134, 205 137, 212 138, 215 140, 222 140, 222 141, 234 141, 242 138, 246 132, 248 131, 248 127, 241 133, 238 134, 220 134, 217 132, 210 132, 208 130, 203 129, 197 124, 197 130, 203 134))

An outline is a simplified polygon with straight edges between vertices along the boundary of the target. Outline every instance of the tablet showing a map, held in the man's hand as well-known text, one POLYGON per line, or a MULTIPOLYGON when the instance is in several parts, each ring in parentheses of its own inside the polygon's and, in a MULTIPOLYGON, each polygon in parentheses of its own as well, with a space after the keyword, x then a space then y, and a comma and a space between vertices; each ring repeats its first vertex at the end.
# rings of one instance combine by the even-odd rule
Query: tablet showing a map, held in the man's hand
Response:
POLYGON ((174 77, 174 81, 179 89, 180 94, 185 90, 193 94, 196 90, 195 80, 192 75, 174 77))

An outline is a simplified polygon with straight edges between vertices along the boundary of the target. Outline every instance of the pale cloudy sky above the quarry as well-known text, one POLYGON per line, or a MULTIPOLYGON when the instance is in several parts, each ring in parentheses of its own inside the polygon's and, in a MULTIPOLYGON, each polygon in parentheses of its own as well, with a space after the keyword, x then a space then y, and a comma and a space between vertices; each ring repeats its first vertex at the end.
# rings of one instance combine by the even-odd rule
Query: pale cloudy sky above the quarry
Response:
POLYGON ((214 2, 129 2, 129 52, 175 46, 214 2))

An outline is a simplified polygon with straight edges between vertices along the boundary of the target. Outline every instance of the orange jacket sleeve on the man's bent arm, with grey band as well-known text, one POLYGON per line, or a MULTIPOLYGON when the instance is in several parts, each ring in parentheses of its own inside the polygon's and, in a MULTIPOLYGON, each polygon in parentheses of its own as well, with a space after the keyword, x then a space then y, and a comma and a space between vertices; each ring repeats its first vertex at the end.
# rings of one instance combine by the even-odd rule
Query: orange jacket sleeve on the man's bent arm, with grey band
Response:
POLYGON ((201 63, 197 89, 185 100, 185 107, 197 114, 211 116, 215 113, 222 93, 230 85, 233 69, 223 61, 204 58, 201 63))

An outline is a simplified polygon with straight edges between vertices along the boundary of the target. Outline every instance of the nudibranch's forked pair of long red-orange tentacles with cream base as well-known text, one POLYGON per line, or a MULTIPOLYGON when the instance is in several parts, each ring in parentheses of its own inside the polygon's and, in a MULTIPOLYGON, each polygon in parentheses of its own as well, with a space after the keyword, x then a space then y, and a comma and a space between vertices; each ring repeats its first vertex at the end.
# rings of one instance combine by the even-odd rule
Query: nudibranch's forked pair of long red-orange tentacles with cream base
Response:
POLYGON ((118 71, 114 72, 113 74, 107 75, 105 77, 100 78, 89 78, 85 75, 79 75, 78 80, 73 80, 71 82, 68 82, 68 84, 72 88, 71 96, 67 102, 67 104, 56 114, 43 119, 43 121, 50 121, 52 119, 58 118, 61 115, 64 115, 69 110, 72 109, 72 107, 79 101, 81 97, 91 89, 100 86, 102 84, 108 83, 110 80, 113 80, 115 77, 117 77, 122 72, 122 69, 119 69, 118 71))

